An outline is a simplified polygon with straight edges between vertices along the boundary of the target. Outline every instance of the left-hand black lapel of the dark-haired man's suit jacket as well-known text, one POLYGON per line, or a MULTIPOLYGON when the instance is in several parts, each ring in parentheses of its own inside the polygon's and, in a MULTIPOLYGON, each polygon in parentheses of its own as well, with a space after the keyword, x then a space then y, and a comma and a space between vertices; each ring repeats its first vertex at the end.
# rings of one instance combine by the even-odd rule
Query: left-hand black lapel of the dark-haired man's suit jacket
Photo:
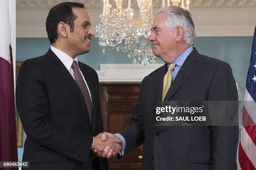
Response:
POLYGON ((75 102, 77 102, 80 105, 80 109, 84 114, 87 123, 90 124, 91 127, 90 118, 88 115, 84 97, 77 83, 74 81, 73 77, 71 76, 67 68, 64 66, 64 64, 59 60, 59 58, 54 54, 54 52, 51 51, 51 49, 49 49, 49 51, 46 53, 46 57, 50 61, 48 62, 48 64, 51 67, 51 69, 56 73, 59 79, 61 79, 63 84, 67 86, 72 96, 74 96, 74 98, 76 99, 75 102))

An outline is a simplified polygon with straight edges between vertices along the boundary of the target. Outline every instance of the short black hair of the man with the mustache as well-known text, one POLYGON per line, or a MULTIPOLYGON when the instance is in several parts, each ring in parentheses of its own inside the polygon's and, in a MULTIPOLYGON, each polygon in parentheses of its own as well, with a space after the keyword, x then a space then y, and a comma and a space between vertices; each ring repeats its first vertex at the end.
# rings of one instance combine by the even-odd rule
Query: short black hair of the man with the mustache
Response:
POLYGON ((57 26, 59 22, 67 23, 70 27, 70 32, 74 31, 74 20, 76 19, 76 16, 74 15, 72 8, 84 8, 84 4, 66 2, 51 8, 46 18, 46 31, 51 44, 58 38, 57 26))

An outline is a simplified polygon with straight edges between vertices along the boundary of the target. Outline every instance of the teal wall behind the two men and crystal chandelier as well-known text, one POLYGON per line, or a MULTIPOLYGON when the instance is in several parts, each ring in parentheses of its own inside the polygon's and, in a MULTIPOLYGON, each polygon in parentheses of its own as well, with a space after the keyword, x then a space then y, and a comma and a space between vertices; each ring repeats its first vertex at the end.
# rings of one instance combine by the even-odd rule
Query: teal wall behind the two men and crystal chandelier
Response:
MULTIPOLYGON (((243 94, 252 41, 253 37, 198 37, 195 47, 201 54, 229 63, 233 69, 236 82, 242 89, 241 94, 243 94)), ((132 63, 126 53, 106 50, 105 55, 102 54, 102 47, 98 43, 98 38, 92 38, 91 44, 90 53, 79 56, 78 60, 88 64, 95 70, 99 70, 102 63, 132 63)), ((16 61, 25 61, 28 58, 44 55, 49 47, 47 38, 17 38, 16 61)), ((159 59, 157 61, 158 63, 163 63, 159 59)), ((240 100, 242 99, 241 95, 240 100)), ((23 143, 25 138, 26 134, 23 133, 23 143)), ((23 147, 20 147, 18 148, 19 161, 22 160, 22 154, 23 147)))

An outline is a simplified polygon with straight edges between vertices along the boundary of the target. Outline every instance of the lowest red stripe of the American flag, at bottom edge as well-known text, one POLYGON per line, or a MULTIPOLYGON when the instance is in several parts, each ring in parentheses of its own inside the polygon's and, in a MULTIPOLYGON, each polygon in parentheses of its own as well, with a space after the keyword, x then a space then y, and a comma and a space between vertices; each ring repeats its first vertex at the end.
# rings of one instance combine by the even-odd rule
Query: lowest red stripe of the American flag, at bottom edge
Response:
POLYGON ((244 152, 241 142, 239 143, 238 152, 239 152, 238 159, 239 159, 239 165, 241 170, 255 170, 255 167, 251 163, 251 160, 249 160, 246 153, 244 152))

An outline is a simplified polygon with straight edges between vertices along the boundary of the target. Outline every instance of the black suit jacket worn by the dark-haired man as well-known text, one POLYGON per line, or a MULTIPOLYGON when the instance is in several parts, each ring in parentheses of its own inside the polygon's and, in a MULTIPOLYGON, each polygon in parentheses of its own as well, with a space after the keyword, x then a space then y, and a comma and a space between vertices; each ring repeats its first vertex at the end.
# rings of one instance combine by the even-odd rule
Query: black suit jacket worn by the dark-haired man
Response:
POLYGON ((23 161, 30 169, 105 170, 107 161, 93 159, 93 136, 102 132, 99 81, 95 70, 79 62, 93 102, 92 124, 82 92, 59 58, 44 56, 23 62, 16 104, 27 138, 23 161), (93 162, 93 163, 92 163, 93 162), (100 168, 101 167, 101 168, 100 168))

